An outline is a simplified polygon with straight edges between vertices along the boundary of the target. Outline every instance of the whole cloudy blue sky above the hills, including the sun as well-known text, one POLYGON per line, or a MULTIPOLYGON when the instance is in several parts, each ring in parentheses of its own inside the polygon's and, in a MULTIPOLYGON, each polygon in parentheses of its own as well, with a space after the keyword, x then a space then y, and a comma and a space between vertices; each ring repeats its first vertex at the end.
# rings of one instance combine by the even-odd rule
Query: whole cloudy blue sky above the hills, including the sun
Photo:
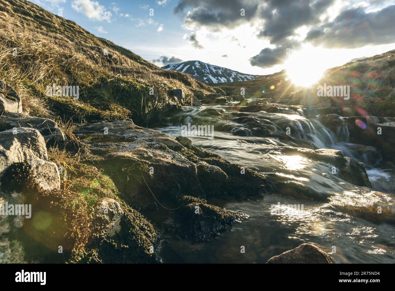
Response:
POLYGON ((395 49, 395 0, 32 2, 158 66, 201 60, 246 74, 285 68, 311 79, 395 49))

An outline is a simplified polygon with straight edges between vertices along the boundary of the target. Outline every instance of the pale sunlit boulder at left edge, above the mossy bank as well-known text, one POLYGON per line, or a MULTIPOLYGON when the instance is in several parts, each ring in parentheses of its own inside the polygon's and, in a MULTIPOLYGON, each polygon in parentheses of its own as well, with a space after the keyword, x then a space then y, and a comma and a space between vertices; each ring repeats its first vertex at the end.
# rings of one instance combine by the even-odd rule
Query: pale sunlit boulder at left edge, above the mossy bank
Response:
POLYGON ((17 128, 0 132, 0 190, 22 189, 23 183, 41 190, 58 189, 58 166, 48 161, 47 148, 40 132, 17 128), (14 182, 14 183, 10 183, 14 182))

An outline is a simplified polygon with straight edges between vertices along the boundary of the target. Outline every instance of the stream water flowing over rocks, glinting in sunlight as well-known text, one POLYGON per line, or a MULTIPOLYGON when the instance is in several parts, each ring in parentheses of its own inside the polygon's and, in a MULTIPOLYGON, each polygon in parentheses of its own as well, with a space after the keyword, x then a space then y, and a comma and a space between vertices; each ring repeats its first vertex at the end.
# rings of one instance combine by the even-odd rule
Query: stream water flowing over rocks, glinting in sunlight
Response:
MULTIPOLYGON (((256 102, 264 100, 252 100, 251 104, 256 102)), ((188 137, 195 146, 265 174, 277 187, 288 189, 282 194, 270 193, 258 201, 209 200, 210 204, 227 210, 241 211, 248 218, 201 243, 174 238, 162 230, 165 237, 159 254, 162 261, 265 263, 299 244, 312 243, 330 253, 336 263, 394 263, 395 226, 384 219, 371 219, 372 210, 366 207, 375 202, 386 207, 388 201, 393 201, 393 173, 382 168, 377 154, 371 156, 361 151, 364 146, 350 143, 348 128, 341 117, 336 128, 328 128, 314 117, 307 118, 301 107, 265 106, 265 110, 255 110, 254 105, 243 107, 231 102, 185 107, 164 127, 157 128, 176 137, 182 133, 181 126, 188 123, 214 125, 213 138, 188 137), (331 166, 300 154, 295 147, 344 151, 365 163, 372 189, 341 180, 332 174, 331 166), (292 194, 294 190, 298 195, 284 194, 292 194), (387 194, 377 194, 375 190, 387 194), (273 215, 273 205, 279 203, 282 211, 273 215), (289 204, 299 204, 303 210, 289 204), (241 252, 242 246, 245 253, 241 252)), ((160 229, 166 210, 146 215, 160 229)))

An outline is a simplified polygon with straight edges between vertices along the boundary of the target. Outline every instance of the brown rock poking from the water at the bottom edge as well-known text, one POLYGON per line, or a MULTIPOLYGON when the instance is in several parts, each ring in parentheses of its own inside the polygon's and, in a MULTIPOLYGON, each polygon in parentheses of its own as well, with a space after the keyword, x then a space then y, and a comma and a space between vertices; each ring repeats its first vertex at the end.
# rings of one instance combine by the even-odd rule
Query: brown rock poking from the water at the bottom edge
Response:
POLYGON ((301 244, 270 258, 266 264, 333 264, 333 261, 322 249, 312 244, 301 244))

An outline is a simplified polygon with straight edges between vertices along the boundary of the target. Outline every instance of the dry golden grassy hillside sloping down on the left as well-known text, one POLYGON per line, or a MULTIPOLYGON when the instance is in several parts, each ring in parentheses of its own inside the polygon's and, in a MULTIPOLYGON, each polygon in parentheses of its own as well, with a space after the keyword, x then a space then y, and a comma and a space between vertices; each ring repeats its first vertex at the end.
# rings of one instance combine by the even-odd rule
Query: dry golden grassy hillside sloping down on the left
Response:
POLYGON ((132 118, 147 126, 177 106, 170 89, 183 89, 190 100, 215 92, 28 1, 1 1, 0 27, 0 80, 15 88, 30 115, 75 121, 132 118), (53 83, 79 86, 79 100, 45 96, 53 83))

